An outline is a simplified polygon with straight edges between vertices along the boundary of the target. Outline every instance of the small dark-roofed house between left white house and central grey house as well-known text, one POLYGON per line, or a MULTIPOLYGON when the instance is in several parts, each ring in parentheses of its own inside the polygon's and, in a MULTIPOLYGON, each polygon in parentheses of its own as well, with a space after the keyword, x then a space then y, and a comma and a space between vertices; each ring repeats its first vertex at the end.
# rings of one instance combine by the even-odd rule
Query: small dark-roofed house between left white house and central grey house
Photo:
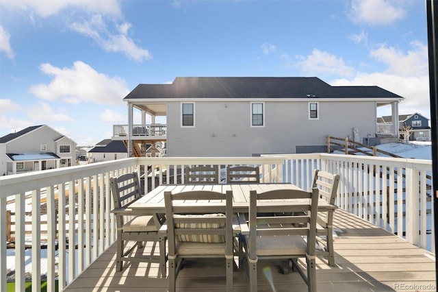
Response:
POLYGON ((123 141, 104 140, 88 151, 89 162, 101 162, 127 158, 127 148, 123 141))

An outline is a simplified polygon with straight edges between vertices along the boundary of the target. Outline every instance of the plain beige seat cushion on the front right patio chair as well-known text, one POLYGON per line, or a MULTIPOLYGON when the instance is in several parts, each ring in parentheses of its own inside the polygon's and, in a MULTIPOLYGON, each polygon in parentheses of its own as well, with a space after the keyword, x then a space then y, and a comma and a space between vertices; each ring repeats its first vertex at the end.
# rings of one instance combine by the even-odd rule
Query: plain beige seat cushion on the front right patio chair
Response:
MULTIPOLYGON (((249 242, 249 236, 246 236, 249 242)), ((257 256, 306 254, 307 243, 300 235, 257 236, 257 256)))

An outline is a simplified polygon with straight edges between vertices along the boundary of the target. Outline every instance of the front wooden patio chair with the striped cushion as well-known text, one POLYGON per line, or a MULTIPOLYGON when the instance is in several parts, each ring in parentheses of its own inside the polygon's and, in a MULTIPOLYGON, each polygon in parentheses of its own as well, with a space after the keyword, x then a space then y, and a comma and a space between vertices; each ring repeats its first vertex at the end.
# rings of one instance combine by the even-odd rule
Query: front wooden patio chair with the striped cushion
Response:
MULTIPOLYGON (((184 258, 225 258, 227 291, 233 290, 233 192, 164 192, 168 231, 168 291, 175 291, 184 258), (202 206, 196 201, 222 199, 223 204, 202 206), (184 201, 188 204, 174 204, 184 201), (201 213, 200 213, 201 212, 201 213)), ((205 203, 204 203, 205 204, 205 203)))

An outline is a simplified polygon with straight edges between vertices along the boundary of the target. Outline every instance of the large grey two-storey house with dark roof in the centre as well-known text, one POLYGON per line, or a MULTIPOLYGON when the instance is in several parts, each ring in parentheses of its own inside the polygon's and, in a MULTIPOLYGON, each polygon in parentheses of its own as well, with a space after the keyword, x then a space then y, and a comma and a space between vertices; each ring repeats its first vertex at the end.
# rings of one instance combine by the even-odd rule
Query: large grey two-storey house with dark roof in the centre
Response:
MULTIPOLYGON (((155 141, 166 143, 168 156, 325 152, 328 135, 378 138, 376 109, 390 106, 397 121, 402 99, 378 86, 331 86, 318 77, 177 77, 134 88, 124 98, 129 124, 114 125, 112 139, 127 141, 131 156, 144 156, 142 145, 155 141), (140 124, 133 124, 134 110, 140 124)), ((398 128, 390 134, 398 137, 398 128)))

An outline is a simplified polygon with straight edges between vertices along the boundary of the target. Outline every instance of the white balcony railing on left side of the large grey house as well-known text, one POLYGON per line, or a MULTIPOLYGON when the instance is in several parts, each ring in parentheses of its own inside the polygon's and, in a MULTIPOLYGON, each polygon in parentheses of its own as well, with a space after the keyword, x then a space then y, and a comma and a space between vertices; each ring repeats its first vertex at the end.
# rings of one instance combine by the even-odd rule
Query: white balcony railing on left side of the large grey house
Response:
MULTIPOLYGON (((113 125, 112 140, 127 140, 128 134, 129 125, 113 125)), ((161 123, 133 125, 131 140, 166 141, 167 125, 161 123)))

